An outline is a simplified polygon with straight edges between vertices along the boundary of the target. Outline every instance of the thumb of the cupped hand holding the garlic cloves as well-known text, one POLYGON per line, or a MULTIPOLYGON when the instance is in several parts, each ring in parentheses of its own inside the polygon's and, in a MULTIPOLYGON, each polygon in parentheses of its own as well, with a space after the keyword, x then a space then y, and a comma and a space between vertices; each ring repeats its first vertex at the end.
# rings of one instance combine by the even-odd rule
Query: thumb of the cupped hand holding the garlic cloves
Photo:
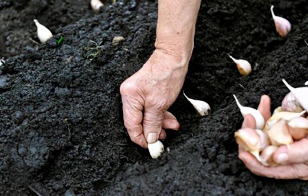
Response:
POLYGON ((308 139, 301 139, 289 147, 279 147, 273 155, 273 160, 278 164, 308 162, 308 139))

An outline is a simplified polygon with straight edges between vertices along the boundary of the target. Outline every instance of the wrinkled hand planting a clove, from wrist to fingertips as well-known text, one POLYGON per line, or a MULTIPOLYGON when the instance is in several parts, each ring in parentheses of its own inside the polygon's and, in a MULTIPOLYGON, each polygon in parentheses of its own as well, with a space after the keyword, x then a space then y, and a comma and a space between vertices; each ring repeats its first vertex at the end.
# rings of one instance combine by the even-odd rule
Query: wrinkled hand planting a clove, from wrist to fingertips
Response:
POLYGON ((147 148, 147 143, 165 139, 165 129, 179 129, 167 111, 183 86, 188 60, 155 50, 144 66, 121 87, 124 125, 130 139, 147 148))

